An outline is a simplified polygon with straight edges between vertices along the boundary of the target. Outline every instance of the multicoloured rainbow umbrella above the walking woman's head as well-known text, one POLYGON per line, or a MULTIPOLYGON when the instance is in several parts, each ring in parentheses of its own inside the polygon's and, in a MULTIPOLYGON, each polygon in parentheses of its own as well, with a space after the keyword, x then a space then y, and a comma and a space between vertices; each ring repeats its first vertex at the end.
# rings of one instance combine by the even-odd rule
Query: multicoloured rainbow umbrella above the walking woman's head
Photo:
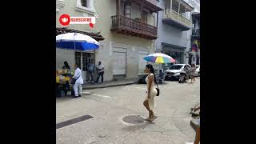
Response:
POLYGON ((162 54, 162 53, 154 53, 149 54, 144 59, 148 62, 155 62, 155 63, 173 63, 176 62, 174 58, 171 58, 169 55, 162 54))

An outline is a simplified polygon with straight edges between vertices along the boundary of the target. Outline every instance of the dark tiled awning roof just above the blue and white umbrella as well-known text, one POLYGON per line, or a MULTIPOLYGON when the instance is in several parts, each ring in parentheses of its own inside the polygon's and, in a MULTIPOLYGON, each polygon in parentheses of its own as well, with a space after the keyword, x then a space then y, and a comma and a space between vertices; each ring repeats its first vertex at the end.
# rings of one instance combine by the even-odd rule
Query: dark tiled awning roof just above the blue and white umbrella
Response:
POLYGON ((56 28, 56 36, 58 34, 75 33, 75 32, 80 33, 80 34, 86 34, 86 35, 90 36, 91 38, 94 38, 96 41, 102 41, 105 39, 102 37, 101 34, 88 33, 86 31, 82 31, 82 30, 67 29, 65 27, 57 27, 56 28))

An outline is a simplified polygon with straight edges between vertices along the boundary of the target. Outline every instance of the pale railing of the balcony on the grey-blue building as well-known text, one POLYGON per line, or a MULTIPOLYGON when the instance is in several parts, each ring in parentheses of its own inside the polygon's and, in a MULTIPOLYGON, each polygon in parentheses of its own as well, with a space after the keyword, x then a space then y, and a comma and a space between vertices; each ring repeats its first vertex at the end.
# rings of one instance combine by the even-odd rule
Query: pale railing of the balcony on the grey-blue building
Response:
POLYGON ((184 17, 182 14, 178 14, 174 10, 165 10, 165 18, 174 18, 176 21, 181 22, 186 26, 192 26, 190 19, 184 17))

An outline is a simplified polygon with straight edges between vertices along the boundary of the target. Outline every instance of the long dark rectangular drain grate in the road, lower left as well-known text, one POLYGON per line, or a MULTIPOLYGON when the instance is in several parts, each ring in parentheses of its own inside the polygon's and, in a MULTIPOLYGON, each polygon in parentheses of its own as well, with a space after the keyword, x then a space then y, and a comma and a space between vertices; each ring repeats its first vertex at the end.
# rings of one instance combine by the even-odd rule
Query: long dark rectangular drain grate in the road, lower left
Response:
POLYGON ((65 127, 65 126, 70 126, 74 123, 77 123, 77 122, 82 122, 82 121, 85 121, 87 119, 90 119, 90 118, 94 118, 90 115, 83 115, 81 117, 78 117, 78 118, 73 118, 73 119, 70 119, 70 120, 67 120, 67 121, 64 121, 64 122, 59 122, 56 124, 56 129, 59 129, 59 128, 62 128, 62 127, 65 127))

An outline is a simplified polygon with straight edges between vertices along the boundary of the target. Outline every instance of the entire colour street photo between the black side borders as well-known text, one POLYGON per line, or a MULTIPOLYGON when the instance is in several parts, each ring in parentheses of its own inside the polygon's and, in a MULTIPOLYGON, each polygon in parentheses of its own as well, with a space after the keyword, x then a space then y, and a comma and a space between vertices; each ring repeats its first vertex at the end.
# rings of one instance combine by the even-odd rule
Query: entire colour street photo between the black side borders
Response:
POLYGON ((56 142, 200 143, 199 0, 56 0, 56 142))

